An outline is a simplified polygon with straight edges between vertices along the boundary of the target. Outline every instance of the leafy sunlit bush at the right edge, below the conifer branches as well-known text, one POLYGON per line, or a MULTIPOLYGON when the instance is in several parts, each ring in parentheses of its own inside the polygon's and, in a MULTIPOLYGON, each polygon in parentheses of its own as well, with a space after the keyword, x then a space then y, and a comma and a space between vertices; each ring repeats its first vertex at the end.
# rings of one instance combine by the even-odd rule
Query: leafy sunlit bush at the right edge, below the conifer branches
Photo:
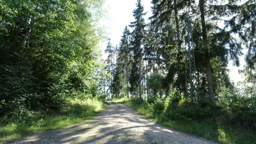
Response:
POLYGON ((256 130, 255 84, 239 85, 240 88, 222 89, 218 105, 222 107, 222 121, 230 125, 256 130))

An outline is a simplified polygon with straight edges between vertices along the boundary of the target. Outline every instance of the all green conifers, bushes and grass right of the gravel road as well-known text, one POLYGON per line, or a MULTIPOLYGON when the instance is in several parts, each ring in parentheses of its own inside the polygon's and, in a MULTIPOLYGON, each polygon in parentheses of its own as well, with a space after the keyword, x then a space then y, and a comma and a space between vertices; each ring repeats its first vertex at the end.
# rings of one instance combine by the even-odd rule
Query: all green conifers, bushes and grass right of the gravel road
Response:
MULTIPOLYGON (((129 45, 133 56, 129 59, 131 68, 126 69, 128 60, 122 64, 124 61, 117 58, 114 91, 118 95, 124 93, 122 82, 125 76, 128 79, 128 73, 132 96, 141 94, 140 84, 145 82, 145 101, 130 99, 126 104, 146 117, 222 143, 255 143, 252 136, 256 130, 255 0, 222 3, 199 0, 199 5, 185 0, 152 0, 151 3, 153 16, 145 31, 145 13, 141 0, 137 1, 133 11, 136 21, 130 25, 134 28, 129 45), (184 28, 184 23, 189 22, 187 16, 192 22, 189 31, 184 28), (220 21, 224 22, 222 26, 220 21), (191 32, 188 42, 194 48, 192 61, 188 60, 188 48, 184 47, 186 32, 191 32), (228 65, 229 62, 240 65, 239 56, 245 47, 247 65, 240 72, 246 76, 246 82, 244 86, 235 86, 230 81, 228 65), (199 95, 193 101, 186 96, 188 61, 196 65, 196 75, 192 77, 199 95), (142 63, 146 64, 142 67, 144 72, 142 63), (249 140, 243 133, 248 134, 249 140)), ((124 50, 121 47, 120 52, 124 50)))

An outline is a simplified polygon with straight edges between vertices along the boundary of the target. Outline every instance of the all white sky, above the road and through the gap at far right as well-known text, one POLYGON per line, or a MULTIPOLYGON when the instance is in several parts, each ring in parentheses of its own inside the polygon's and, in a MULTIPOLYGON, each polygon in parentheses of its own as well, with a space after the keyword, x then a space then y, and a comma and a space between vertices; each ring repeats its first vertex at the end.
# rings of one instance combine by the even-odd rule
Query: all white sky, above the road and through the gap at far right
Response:
MULTIPOLYGON (((105 33, 110 38, 113 46, 119 44, 121 36, 123 34, 125 26, 128 26, 130 22, 134 21, 133 10, 136 8, 137 0, 105 0, 104 9, 105 16, 99 21, 99 26, 105 28, 105 33)), ((152 16, 151 12, 151 0, 142 0, 144 6, 145 22, 148 23, 148 17, 152 16)), ((104 53, 108 40, 100 42, 100 49, 102 50, 102 58, 106 59, 107 55, 104 53)), ((243 50, 246 54, 246 49, 243 50)), ((239 69, 243 69, 245 64, 244 56, 240 57, 240 67, 232 66, 232 62, 229 62, 228 69, 230 80, 237 83, 243 81, 242 75, 238 73, 239 69)))

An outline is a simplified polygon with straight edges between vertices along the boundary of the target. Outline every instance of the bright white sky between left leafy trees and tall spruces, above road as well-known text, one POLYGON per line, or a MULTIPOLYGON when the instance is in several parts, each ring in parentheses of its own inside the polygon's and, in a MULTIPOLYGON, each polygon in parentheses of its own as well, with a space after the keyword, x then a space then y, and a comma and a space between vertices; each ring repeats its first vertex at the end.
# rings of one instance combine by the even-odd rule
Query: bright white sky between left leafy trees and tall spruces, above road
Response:
MULTIPOLYGON (((149 22, 148 17, 152 15, 151 0, 142 0, 144 12, 147 12, 145 18, 146 23, 149 22)), ((137 0, 105 0, 104 8, 106 9, 106 16, 100 21, 100 25, 105 27, 107 36, 111 39, 113 46, 119 44, 125 26, 130 25, 130 22, 135 21, 133 17, 133 10, 136 8, 137 0)), ((101 42, 100 47, 103 51, 108 44, 108 41, 101 42)))

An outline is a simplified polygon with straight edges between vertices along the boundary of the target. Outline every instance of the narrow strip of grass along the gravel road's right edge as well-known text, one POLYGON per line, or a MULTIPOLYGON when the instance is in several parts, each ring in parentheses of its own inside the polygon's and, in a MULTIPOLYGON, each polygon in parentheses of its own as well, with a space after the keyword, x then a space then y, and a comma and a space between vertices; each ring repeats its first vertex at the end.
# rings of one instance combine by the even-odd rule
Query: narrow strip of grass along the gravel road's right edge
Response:
POLYGON ((129 99, 114 99, 112 102, 124 103, 144 117, 152 119, 155 123, 183 131, 190 134, 213 140, 222 144, 256 144, 256 132, 242 127, 232 127, 209 122, 187 120, 172 120, 164 115, 154 115, 150 107, 144 104, 133 104, 129 99))

